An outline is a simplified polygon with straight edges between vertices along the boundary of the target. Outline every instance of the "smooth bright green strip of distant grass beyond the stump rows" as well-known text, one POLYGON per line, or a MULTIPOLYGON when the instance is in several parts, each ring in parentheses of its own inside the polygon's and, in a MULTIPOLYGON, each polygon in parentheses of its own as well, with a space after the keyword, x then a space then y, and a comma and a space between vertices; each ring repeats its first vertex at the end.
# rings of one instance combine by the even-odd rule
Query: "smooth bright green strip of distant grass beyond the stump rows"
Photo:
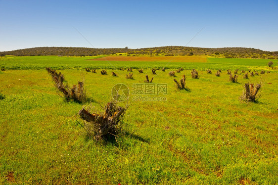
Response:
MULTIPOLYGON (((207 58, 202 59, 187 59, 190 56, 184 56, 185 62, 176 61, 177 57, 171 57, 172 59, 161 61, 152 61, 155 57, 149 57, 150 61, 147 61, 144 57, 144 61, 109 61, 109 60, 90 60, 93 58, 101 58, 101 56, 86 56, 86 57, 74 57, 74 56, 8 56, 6 58, 0 58, 0 68, 5 69, 45 69, 51 67, 53 69, 79 69, 85 70, 85 68, 96 69, 118 69, 120 67, 131 67, 133 69, 147 69, 147 68, 184 68, 184 69, 196 69, 196 70, 235 70, 240 68, 241 70, 247 69, 264 69, 271 70, 267 66, 269 59, 241 59, 241 58, 207 58), (203 61, 203 62, 200 62, 203 61)), ((114 58, 117 56, 113 56, 114 58)), ((132 57, 132 56, 130 56, 132 57)), ((183 56, 182 56, 183 57, 183 56)), ((195 56, 192 56, 195 58, 195 56)), ((162 58, 161 56, 158 58, 162 58)), ((169 58, 169 56, 168 56, 169 58)), ((178 57, 180 58, 180 57, 178 57)), ((272 60, 275 65, 278 60, 272 60)), ((275 67, 275 66, 274 66, 275 67)))

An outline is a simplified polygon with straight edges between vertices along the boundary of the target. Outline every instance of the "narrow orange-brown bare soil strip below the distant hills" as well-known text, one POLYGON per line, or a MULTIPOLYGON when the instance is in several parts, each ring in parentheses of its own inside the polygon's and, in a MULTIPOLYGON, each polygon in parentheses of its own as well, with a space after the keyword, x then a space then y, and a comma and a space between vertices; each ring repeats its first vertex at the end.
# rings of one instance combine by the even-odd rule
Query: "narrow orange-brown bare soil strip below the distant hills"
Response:
POLYGON ((207 62, 206 56, 105 56, 90 60, 97 61, 173 61, 173 62, 207 62))

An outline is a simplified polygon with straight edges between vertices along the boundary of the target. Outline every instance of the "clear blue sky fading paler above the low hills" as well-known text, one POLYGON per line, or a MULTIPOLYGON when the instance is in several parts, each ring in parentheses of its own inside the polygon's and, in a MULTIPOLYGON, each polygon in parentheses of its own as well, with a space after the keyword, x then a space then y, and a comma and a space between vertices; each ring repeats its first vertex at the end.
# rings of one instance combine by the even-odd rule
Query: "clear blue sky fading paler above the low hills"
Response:
POLYGON ((187 46, 277 51, 278 0, 0 0, 0 51, 186 46, 202 28, 187 46))

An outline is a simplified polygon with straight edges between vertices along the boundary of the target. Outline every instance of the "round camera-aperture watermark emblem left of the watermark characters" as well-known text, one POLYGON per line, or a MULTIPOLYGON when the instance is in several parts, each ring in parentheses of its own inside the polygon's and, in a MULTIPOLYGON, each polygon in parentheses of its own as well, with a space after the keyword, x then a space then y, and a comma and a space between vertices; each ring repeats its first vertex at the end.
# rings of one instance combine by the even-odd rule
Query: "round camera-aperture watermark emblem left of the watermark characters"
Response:
POLYGON ((111 90, 111 95, 116 101, 125 101, 129 97, 129 88, 125 84, 116 84, 111 90))

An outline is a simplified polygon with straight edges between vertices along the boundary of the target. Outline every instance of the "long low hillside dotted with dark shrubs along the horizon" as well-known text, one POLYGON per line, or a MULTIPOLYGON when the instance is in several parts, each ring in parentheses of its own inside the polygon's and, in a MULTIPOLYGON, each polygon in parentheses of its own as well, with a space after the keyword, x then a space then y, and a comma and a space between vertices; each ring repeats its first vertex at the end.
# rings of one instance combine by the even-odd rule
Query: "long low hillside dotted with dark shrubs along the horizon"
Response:
POLYGON ((88 48, 88 47, 34 47, 18 49, 13 51, 0 52, 0 56, 37 56, 37 55, 60 55, 60 56, 95 56, 100 54, 125 54, 137 55, 209 55, 226 58, 267 58, 278 59, 278 51, 263 51, 260 49, 246 47, 223 47, 223 48, 202 48, 185 46, 162 46, 139 49, 129 48, 88 48))

